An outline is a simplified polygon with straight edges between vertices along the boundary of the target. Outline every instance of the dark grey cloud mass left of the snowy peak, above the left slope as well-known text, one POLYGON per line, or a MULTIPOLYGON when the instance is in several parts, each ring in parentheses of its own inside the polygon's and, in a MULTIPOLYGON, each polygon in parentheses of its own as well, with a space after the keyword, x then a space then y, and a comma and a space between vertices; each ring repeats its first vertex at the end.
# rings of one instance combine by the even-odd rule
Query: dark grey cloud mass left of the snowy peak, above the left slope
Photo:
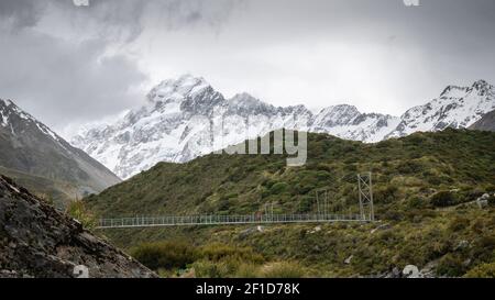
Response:
POLYGON ((105 48, 100 40, 73 45, 38 33, 10 36, 0 55, 1 98, 57 130, 132 107, 142 99, 133 88, 146 76, 123 55, 101 56, 105 48))

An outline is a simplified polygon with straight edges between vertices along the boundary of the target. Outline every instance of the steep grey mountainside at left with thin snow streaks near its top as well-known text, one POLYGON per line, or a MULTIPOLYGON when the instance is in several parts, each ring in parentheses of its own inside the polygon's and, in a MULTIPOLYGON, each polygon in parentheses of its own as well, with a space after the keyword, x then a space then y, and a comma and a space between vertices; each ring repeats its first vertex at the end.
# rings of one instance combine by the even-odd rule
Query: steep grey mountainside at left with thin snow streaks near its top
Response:
POLYGON ((120 178, 48 126, 0 99, 0 173, 56 204, 99 192, 120 178))

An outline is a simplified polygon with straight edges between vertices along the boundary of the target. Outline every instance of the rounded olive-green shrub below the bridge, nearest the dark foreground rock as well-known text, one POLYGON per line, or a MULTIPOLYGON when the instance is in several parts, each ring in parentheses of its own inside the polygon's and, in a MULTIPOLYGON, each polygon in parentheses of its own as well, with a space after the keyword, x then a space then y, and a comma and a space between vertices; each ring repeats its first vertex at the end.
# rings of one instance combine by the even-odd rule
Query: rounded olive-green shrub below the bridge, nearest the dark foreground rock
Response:
POLYGON ((195 248, 184 242, 145 243, 131 249, 131 256, 146 267, 158 269, 185 268, 196 260, 195 248))

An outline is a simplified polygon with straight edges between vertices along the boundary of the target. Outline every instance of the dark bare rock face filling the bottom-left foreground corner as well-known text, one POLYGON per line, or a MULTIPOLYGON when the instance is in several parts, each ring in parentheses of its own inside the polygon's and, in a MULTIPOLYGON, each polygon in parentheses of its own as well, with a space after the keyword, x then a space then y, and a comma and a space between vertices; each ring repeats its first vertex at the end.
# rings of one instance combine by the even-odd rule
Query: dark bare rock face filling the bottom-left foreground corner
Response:
POLYGON ((156 277, 28 190, 0 176, 0 278, 156 277))

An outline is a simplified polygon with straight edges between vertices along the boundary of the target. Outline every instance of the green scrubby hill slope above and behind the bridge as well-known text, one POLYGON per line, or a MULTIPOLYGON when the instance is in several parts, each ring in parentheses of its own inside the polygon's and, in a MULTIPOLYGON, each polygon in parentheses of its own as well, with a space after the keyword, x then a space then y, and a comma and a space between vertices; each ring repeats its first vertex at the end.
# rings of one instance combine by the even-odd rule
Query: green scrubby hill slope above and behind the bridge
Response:
MULTIPOLYGON (((282 155, 209 155, 188 164, 158 164, 87 202, 105 216, 168 213, 252 213, 276 202, 280 212, 311 210, 315 191, 356 203, 356 174, 373 171, 378 215, 410 197, 495 185, 495 135, 446 131, 378 144, 309 134, 308 162, 287 167, 282 155)), ((462 195, 461 195, 462 193, 462 195)))

